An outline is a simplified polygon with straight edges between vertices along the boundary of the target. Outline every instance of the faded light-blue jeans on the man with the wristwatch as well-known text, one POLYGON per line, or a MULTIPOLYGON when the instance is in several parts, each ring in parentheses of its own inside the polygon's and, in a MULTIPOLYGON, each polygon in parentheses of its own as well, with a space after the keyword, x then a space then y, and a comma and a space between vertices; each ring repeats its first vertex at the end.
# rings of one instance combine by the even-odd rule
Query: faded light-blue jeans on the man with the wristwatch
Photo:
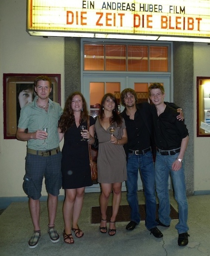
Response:
POLYGON ((159 199, 158 217, 165 225, 170 225, 170 200, 168 191, 169 173, 173 183, 174 196, 178 203, 179 222, 175 226, 178 234, 188 232, 188 202, 186 197, 185 174, 182 168, 179 171, 172 171, 172 164, 178 157, 175 155, 161 155, 157 152, 155 159, 155 185, 159 199))

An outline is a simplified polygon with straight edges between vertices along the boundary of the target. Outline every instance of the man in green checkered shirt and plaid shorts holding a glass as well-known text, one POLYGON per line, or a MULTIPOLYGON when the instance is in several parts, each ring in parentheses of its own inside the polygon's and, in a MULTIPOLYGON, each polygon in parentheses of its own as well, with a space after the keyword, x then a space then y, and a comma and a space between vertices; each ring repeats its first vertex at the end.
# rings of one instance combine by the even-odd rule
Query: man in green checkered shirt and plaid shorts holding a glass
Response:
POLYGON ((41 236, 39 198, 43 177, 48 192, 48 233, 53 243, 60 239, 55 230, 57 197, 62 186, 62 154, 57 128, 63 110, 58 103, 49 99, 51 85, 52 82, 47 76, 36 78, 34 89, 37 96, 33 102, 21 109, 16 134, 18 140, 27 141, 23 189, 29 198, 29 210, 34 225, 34 234, 28 242, 30 248, 38 245, 41 236))

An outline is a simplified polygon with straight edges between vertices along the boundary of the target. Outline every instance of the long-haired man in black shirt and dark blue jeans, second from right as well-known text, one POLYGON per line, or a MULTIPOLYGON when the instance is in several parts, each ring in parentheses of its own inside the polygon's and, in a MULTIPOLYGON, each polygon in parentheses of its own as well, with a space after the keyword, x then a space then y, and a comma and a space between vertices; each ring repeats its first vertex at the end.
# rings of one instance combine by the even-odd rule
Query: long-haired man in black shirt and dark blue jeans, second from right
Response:
MULTIPOLYGON (((121 113, 126 122, 128 144, 127 149, 127 201, 131 208, 131 221, 126 226, 133 230, 140 222, 139 202, 137 197, 137 181, 140 169, 141 179, 146 198, 146 220, 148 230, 157 238, 162 237, 155 220, 156 196, 153 154, 151 151, 153 139, 153 120, 151 105, 148 102, 136 104, 136 92, 127 88, 120 94, 121 104, 125 110, 121 113)), ((178 108, 174 104, 173 107, 178 108)), ((179 116, 179 118, 182 118, 179 116)))

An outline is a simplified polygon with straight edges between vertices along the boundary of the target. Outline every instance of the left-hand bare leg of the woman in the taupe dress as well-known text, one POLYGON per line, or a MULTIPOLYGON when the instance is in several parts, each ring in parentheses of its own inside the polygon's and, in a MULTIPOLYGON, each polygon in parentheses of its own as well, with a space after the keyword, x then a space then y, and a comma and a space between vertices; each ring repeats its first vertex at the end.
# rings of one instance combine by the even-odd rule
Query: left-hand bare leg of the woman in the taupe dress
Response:
POLYGON ((109 203, 109 196, 112 191, 112 184, 101 183, 101 195, 99 198, 100 210, 101 210, 101 224, 100 227, 106 227, 106 210, 109 203))

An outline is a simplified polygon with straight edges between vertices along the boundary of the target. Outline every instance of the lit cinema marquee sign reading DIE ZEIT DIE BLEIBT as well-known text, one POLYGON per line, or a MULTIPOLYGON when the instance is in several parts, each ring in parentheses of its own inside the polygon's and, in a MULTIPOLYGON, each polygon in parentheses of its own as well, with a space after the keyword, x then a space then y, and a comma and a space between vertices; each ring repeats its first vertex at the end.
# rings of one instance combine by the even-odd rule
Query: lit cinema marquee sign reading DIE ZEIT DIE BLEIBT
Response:
POLYGON ((28 0, 27 31, 205 38, 210 1, 28 0))

